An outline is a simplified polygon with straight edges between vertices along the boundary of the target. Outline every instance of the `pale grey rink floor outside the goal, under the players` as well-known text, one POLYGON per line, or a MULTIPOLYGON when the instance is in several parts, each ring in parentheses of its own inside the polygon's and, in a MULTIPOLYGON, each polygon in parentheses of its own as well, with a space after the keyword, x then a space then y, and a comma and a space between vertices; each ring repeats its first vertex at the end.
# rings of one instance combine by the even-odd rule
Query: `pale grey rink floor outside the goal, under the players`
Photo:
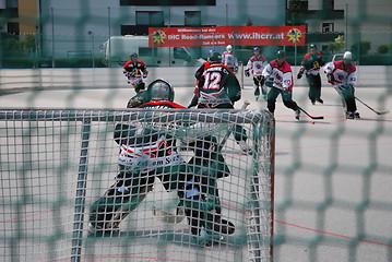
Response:
MULTIPOLYGON (((359 71, 356 96, 376 110, 392 111, 391 69, 369 70, 359 71)), ((192 71, 187 76, 152 72, 147 83, 166 75, 174 83, 175 102, 189 104, 192 71)), ((323 105, 310 104, 304 79, 296 81, 294 100, 324 119, 302 114, 296 120, 281 97, 276 102, 274 261, 392 261, 392 114, 379 116, 357 102, 361 118, 347 120, 324 75, 323 105)), ((266 102, 252 96, 250 79, 243 85, 236 108, 243 100, 250 102, 249 110, 266 108, 266 102)), ((69 87, 24 88, 0 96, 0 107, 123 108, 134 95, 131 88, 69 87)))

